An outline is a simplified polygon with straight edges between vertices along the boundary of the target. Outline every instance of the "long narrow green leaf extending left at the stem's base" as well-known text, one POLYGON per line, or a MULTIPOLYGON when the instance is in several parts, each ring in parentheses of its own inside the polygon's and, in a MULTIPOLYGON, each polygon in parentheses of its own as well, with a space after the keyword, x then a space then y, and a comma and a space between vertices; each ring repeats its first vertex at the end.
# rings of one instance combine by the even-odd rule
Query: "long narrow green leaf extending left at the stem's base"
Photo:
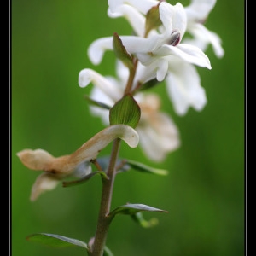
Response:
POLYGON ((37 233, 26 237, 27 241, 36 241, 50 247, 84 247, 88 248, 84 241, 69 238, 66 236, 59 236, 55 234, 37 233))

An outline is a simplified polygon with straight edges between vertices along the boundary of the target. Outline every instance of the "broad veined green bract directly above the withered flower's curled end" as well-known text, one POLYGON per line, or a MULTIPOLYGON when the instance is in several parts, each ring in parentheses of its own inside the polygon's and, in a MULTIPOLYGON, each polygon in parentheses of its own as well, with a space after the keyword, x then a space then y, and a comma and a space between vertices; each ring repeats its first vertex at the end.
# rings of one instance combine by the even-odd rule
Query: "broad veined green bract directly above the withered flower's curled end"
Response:
POLYGON ((110 125, 123 124, 135 128, 140 118, 141 108, 130 94, 123 96, 109 111, 110 125))

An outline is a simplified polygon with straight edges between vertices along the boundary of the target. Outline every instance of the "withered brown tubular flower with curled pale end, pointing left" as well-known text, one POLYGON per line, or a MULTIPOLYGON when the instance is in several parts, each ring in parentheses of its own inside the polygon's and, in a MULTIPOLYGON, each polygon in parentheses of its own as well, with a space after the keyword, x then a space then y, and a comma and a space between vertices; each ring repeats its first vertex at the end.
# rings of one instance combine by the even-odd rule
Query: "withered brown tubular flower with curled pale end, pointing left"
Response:
POLYGON ((91 137, 73 154, 54 157, 40 148, 18 152, 17 155, 24 166, 34 171, 43 171, 32 186, 31 201, 35 201, 44 191, 55 189, 66 177, 84 177, 89 174, 90 160, 95 160, 99 152, 118 137, 131 148, 137 147, 137 131, 128 125, 111 125, 91 137))

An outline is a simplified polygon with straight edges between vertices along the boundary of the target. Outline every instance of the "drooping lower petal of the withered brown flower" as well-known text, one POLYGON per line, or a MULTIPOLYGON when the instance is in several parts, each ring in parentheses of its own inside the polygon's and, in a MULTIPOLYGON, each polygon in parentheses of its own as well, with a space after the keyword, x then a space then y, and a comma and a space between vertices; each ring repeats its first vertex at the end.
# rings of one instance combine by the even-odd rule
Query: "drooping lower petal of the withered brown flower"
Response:
POLYGON ((35 183, 32 186, 30 200, 35 201, 36 199, 38 199, 38 196, 45 191, 55 189, 59 182, 59 177, 56 177, 55 175, 47 172, 42 173, 37 177, 35 183))

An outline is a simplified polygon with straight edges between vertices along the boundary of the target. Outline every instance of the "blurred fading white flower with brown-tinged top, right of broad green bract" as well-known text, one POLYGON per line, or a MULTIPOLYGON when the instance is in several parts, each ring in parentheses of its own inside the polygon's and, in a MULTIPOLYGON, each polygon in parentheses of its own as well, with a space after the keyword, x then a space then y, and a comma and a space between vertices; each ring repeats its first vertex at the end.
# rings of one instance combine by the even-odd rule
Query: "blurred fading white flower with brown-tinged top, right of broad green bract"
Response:
POLYGON ((180 146, 177 126, 169 115, 160 112, 160 98, 156 94, 141 94, 137 101, 142 111, 136 128, 140 146, 148 159, 165 160, 166 154, 180 146))

